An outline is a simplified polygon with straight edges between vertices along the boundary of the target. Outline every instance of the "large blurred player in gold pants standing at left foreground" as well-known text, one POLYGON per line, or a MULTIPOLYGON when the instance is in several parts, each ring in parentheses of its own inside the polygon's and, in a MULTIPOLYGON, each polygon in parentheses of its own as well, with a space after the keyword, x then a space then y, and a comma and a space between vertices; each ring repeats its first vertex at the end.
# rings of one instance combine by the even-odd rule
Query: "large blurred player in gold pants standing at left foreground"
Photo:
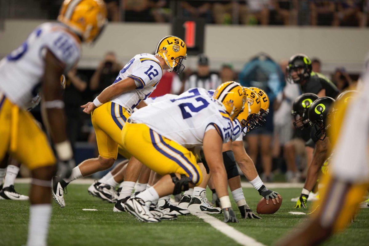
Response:
POLYGON ((27 245, 46 245, 57 162, 46 134, 27 111, 28 104, 42 90, 58 174, 69 177, 74 161, 65 131, 60 77, 78 62, 81 42, 99 36, 107 22, 106 6, 100 0, 64 1, 58 20, 39 25, 0 62, 0 160, 8 152, 32 175, 27 245))

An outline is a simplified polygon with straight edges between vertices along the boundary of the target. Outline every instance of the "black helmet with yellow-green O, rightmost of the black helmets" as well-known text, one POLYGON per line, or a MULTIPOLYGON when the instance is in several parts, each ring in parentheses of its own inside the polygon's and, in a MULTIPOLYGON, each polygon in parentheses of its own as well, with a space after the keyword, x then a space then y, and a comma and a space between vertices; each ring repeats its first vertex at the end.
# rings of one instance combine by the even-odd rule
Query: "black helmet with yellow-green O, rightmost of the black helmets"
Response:
POLYGON ((331 106, 335 100, 331 97, 321 97, 315 100, 308 110, 310 126, 315 127, 315 136, 319 140, 324 140, 326 131, 330 127, 327 124, 328 118, 331 117, 331 106))

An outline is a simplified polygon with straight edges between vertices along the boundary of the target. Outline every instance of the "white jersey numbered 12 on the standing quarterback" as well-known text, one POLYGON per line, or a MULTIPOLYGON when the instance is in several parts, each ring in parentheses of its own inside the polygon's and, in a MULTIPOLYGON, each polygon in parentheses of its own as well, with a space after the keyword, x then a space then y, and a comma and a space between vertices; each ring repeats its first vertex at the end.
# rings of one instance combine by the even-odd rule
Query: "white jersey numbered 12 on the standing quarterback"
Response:
POLYGON ((126 91, 110 101, 121 105, 131 113, 141 100, 145 100, 155 90, 162 75, 163 69, 154 55, 147 53, 135 55, 120 70, 114 83, 130 77, 135 80, 137 89, 126 91))

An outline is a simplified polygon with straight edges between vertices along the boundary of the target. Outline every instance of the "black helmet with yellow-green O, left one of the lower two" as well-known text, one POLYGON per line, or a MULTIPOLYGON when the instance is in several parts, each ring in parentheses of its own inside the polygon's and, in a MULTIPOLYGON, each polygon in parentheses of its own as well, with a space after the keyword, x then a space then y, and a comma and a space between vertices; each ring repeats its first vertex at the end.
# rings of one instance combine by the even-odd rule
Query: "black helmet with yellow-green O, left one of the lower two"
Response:
POLYGON ((318 96, 314 93, 304 93, 296 97, 292 105, 293 125, 296 129, 302 130, 310 127, 307 111, 310 105, 317 99, 318 96))

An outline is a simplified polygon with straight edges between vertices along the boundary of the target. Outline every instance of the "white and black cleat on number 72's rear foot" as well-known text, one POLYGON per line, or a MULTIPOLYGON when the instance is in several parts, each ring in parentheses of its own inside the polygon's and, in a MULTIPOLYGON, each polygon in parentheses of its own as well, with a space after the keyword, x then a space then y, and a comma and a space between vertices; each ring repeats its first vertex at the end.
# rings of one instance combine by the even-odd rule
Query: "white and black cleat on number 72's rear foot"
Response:
POLYGON ((141 198, 130 198, 124 204, 125 211, 134 215, 138 220, 148 223, 158 223, 159 218, 151 214, 148 207, 146 207, 144 200, 141 198))

